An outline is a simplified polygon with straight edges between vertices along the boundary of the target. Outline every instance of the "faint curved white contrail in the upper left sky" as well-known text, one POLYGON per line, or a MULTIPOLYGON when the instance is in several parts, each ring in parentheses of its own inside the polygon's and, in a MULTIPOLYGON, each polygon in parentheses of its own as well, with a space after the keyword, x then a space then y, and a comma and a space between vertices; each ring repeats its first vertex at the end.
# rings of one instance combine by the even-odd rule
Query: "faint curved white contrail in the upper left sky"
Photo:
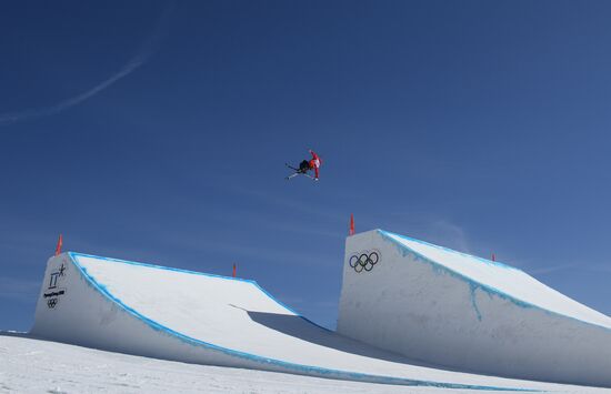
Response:
POLYGON ((172 11, 173 11, 173 3, 164 10, 163 14, 161 16, 157 24, 157 28, 151 33, 151 36, 147 39, 147 41, 144 41, 144 43, 140 47, 140 49, 136 52, 136 54, 117 73, 114 73, 110 78, 98 83, 96 87, 89 89, 86 92, 82 92, 78 95, 66 99, 63 101, 60 101, 53 105, 43 107, 43 108, 33 108, 33 109, 18 111, 18 112, 0 113, 0 125, 6 125, 6 124, 23 121, 23 120, 30 120, 34 118, 41 118, 41 117, 52 115, 52 114, 62 112, 64 110, 68 110, 74 105, 78 105, 91 99, 93 95, 110 88, 117 81, 131 74, 138 68, 144 64, 159 48, 159 43, 161 39, 166 36, 166 32, 168 30, 168 24, 169 24, 169 20, 172 11))

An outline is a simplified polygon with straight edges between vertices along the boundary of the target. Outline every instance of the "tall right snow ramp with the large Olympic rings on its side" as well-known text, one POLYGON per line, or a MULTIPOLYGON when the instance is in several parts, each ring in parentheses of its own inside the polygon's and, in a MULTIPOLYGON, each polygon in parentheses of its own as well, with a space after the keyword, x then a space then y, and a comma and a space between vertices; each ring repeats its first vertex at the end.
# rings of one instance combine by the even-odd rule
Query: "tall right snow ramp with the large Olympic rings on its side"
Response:
POLYGON ((521 270, 381 230, 347 239, 338 332, 462 371, 611 387, 611 317, 521 270))

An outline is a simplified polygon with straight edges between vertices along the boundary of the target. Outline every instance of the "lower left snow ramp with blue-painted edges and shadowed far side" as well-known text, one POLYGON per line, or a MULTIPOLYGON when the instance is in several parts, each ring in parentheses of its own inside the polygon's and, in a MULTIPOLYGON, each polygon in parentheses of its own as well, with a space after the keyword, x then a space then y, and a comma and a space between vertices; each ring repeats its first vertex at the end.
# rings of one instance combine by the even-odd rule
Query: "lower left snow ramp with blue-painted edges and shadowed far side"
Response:
MULTIPOLYGON (((381 264, 375 271, 382 271, 381 264)), ((253 281, 70 252, 47 264, 31 334, 134 355, 319 377, 475 390, 541 387, 409 363, 309 322, 253 281)))

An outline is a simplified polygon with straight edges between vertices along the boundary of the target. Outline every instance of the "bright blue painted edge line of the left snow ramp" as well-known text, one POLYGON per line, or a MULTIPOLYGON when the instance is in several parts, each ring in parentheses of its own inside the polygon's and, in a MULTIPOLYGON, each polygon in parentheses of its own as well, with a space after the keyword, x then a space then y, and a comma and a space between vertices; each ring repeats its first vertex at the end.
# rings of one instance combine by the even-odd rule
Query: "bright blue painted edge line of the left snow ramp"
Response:
MULTIPOLYGON (((110 293, 110 291, 103 284, 99 283, 92 275, 90 275, 87 272, 87 269, 79 263, 79 261, 78 261, 79 256, 104 260, 104 261, 114 262, 114 263, 141 265, 141 266, 146 266, 146 267, 149 267, 149 269, 176 271, 176 272, 181 272, 181 273, 186 273, 186 274, 204 275, 204 276, 218 277, 218 279, 228 280, 228 281, 247 282, 247 283, 250 283, 250 284, 257 286, 258 289, 260 289, 263 292, 263 294, 266 294, 273 302, 276 302, 279 305, 283 306, 284 309, 287 309, 291 313, 294 313, 298 316, 301 316, 301 315, 297 314, 294 311, 292 311, 288 306, 283 305, 282 303, 277 301, 271 294, 269 294, 267 291, 264 291, 254 281, 243 280, 243 279, 234 279, 234 277, 228 277, 228 276, 221 276, 221 275, 214 275, 214 274, 207 274, 207 273, 188 271, 188 270, 172 269, 172 267, 166 267, 166 266, 154 265, 154 264, 129 262, 129 261, 118 260, 118 259, 100 257, 100 256, 94 256, 94 255, 90 255, 90 254, 81 254, 81 253, 76 253, 76 252, 68 252, 68 255, 70 256, 70 260, 72 261, 74 266, 79 270, 81 275, 86 279, 86 281, 90 285, 92 285, 97 291, 99 291, 110 302, 118 304, 126 312, 130 313, 131 315, 133 315, 138 320, 142 321, 143 323, 149 325, 151 329, 153 329, 156 331, 164 332, 164 333, 170 334, 172 336, 176 336, 177 339, 179 339, 179 340, 181 340, 181 341, 183 341, 188 344, 203 346, 206 348, 213 350, 213 351, 223 353, 223 354, 229 355, 229 356, 234 356, 234 357, 248 360, 248 361, 251 361, 251 362, 256 362, 258 364, 272 365, 272 366, 276 366, 276 367, 280 367, 280 368, 284 370, 286 372, 293 372, 293 373, 302 374, 302 375, 313 375, 313 376, 319 376, 319 377, 330 377, 330 378, 347 380, 347 381, 361 381, 361 382, 370 382, 370 383, 408 385, 408 386, 430 386, 430 387, 443 387, 443 388, 488 390, 488 391, 503 391, 503 392, 507 392, 507 391, 539 392, 538 390, 529 390, 529 388, 510 388, 510 387, 494 387, 494 386, 469 385, 469 384, 457 384, 457 383, 430 382, 430 381, 409 380, 409 378, 391 377, 391 376, 383 376, 383 375, 370 375, 370 374, 348 372, 348 371, 341 371, 341 370, 331 370, 331 368, 324 368, 324 367, 319 367, 319 366, 290 363, 290 362, 286 362, 286 361, 281 361, 281 360, 269 358, 269 357, 260 356, 260 355, 257 355, 257 354, 240 352, 240 351, 236 351, 236 350, 232 350, 232 348, 214 345, 212 343, 208 343, 208 342, 204 342, 204 341, 201 341, 201 340, 197 340, 197 339, 190 337, 188 335, 184 335, 182 333, 179 333, 174 330, 171 330, 171 329, 169 329, 169 327, 167 327, 167 326, 164 326, 164 325, 162 325, 162 324, 160 324, 160 323, 142 315, 141 313, 139 313, 134 309, 128 306, 120 299, 118 299, 112 293, 110 293)), ((310 321, 308 321, 308 322, 310 322, 310 321)), ((321 329, 323 329, 323 327, 321 327, 321 329)), ((324 330, 327 330, 327 329, 324 329, 324 330)), ((330 331, 330 330, 327 330, 327 331, 330 331)))

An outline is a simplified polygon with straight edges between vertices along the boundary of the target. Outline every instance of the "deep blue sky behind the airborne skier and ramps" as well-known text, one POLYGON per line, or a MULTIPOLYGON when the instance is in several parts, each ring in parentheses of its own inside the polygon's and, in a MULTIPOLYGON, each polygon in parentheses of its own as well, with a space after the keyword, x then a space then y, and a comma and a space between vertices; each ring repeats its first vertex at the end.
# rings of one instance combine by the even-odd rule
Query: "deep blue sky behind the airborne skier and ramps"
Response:
POLYGON ((343 242, 489 256, 611 314, 608 1, 11 1, 0 329, 68 250, 254 279, 333 327, 343 242), (284 180, 308 148, 321 181, 284 180))

